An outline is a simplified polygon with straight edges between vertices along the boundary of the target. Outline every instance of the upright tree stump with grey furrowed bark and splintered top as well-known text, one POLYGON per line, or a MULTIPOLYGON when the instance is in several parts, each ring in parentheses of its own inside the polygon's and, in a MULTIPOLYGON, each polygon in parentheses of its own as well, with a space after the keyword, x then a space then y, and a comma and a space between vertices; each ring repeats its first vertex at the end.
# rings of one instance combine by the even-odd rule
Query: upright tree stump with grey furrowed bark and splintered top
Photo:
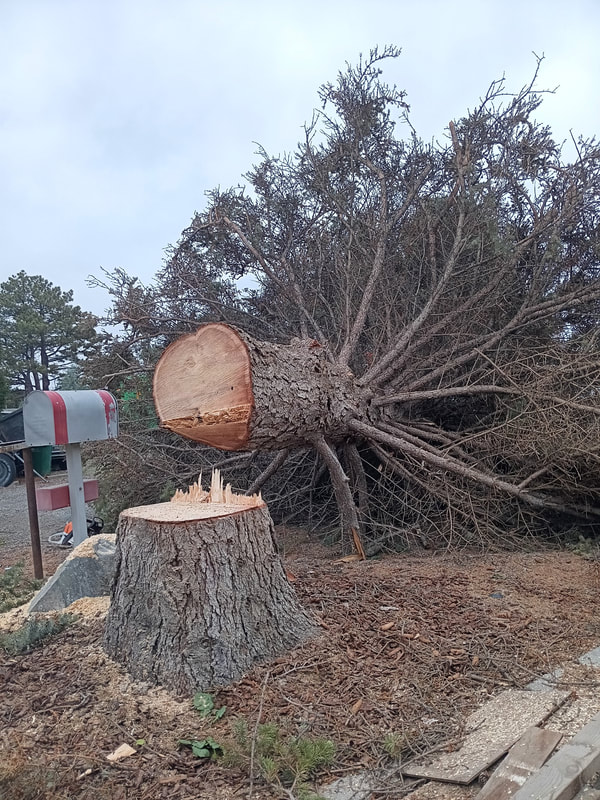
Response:
POLYGON ((316 632, 260 496, 219 491, 196 487, 191 499, 119 519, 105 649, 133 677, 178 695, 238 680, 316 632))

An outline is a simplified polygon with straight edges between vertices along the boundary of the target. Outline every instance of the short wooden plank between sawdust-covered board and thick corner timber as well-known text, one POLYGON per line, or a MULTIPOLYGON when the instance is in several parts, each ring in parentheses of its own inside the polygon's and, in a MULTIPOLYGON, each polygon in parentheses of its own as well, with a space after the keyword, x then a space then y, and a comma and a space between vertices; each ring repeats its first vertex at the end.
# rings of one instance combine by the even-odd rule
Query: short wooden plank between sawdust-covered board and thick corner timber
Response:
POLYGON ((476 800, 512 797, 533 772, 544 766, 561 739, 562 734, 557 731, 528 728, 476 795, 476 800))

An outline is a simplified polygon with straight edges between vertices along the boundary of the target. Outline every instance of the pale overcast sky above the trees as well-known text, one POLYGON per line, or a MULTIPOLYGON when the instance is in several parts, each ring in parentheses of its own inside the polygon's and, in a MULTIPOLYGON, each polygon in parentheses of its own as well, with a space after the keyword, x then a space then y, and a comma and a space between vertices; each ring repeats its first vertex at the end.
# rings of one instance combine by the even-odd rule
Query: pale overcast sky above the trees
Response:
POLYGON ((444 136, 545 55, 538 112, 600 129, 600 0, 0 0, 0 281, 43 275, 102 314, 102 268, 144 282, 255 142, 293 150, 320 84, 374 45, 413 124, 444 136))

